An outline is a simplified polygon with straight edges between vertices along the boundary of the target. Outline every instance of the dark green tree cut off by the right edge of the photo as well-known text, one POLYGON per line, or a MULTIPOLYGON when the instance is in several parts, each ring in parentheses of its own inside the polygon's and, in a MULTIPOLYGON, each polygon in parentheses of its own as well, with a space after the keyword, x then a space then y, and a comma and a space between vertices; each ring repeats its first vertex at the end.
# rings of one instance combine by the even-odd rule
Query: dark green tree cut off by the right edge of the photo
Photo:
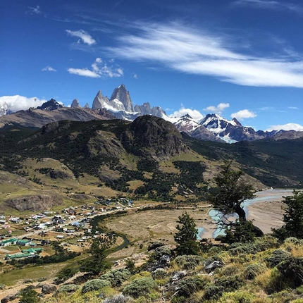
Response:
POLYGON ((281 240, 286 237, 297 237, 303 239, 303 192, 294 190, 292 196, 283 197, 283 202, 287 204, 282 228, 273 230, 274 235, 281 240))

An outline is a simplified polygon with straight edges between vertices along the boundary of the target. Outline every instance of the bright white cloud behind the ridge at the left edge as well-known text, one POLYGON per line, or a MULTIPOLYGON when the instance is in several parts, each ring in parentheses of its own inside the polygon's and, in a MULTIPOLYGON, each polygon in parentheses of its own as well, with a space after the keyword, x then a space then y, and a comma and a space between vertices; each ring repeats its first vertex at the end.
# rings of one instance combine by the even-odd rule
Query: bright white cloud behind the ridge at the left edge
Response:
POLYGON ((27 98, 23 96, 19 96, 16 94, 15 96, 3 96, 0 97, 0 104, 7 105, 8 111, 15 112, 29 109, 30 107, 41 106, 47 100, 37 99, 36 97, 27 98))

